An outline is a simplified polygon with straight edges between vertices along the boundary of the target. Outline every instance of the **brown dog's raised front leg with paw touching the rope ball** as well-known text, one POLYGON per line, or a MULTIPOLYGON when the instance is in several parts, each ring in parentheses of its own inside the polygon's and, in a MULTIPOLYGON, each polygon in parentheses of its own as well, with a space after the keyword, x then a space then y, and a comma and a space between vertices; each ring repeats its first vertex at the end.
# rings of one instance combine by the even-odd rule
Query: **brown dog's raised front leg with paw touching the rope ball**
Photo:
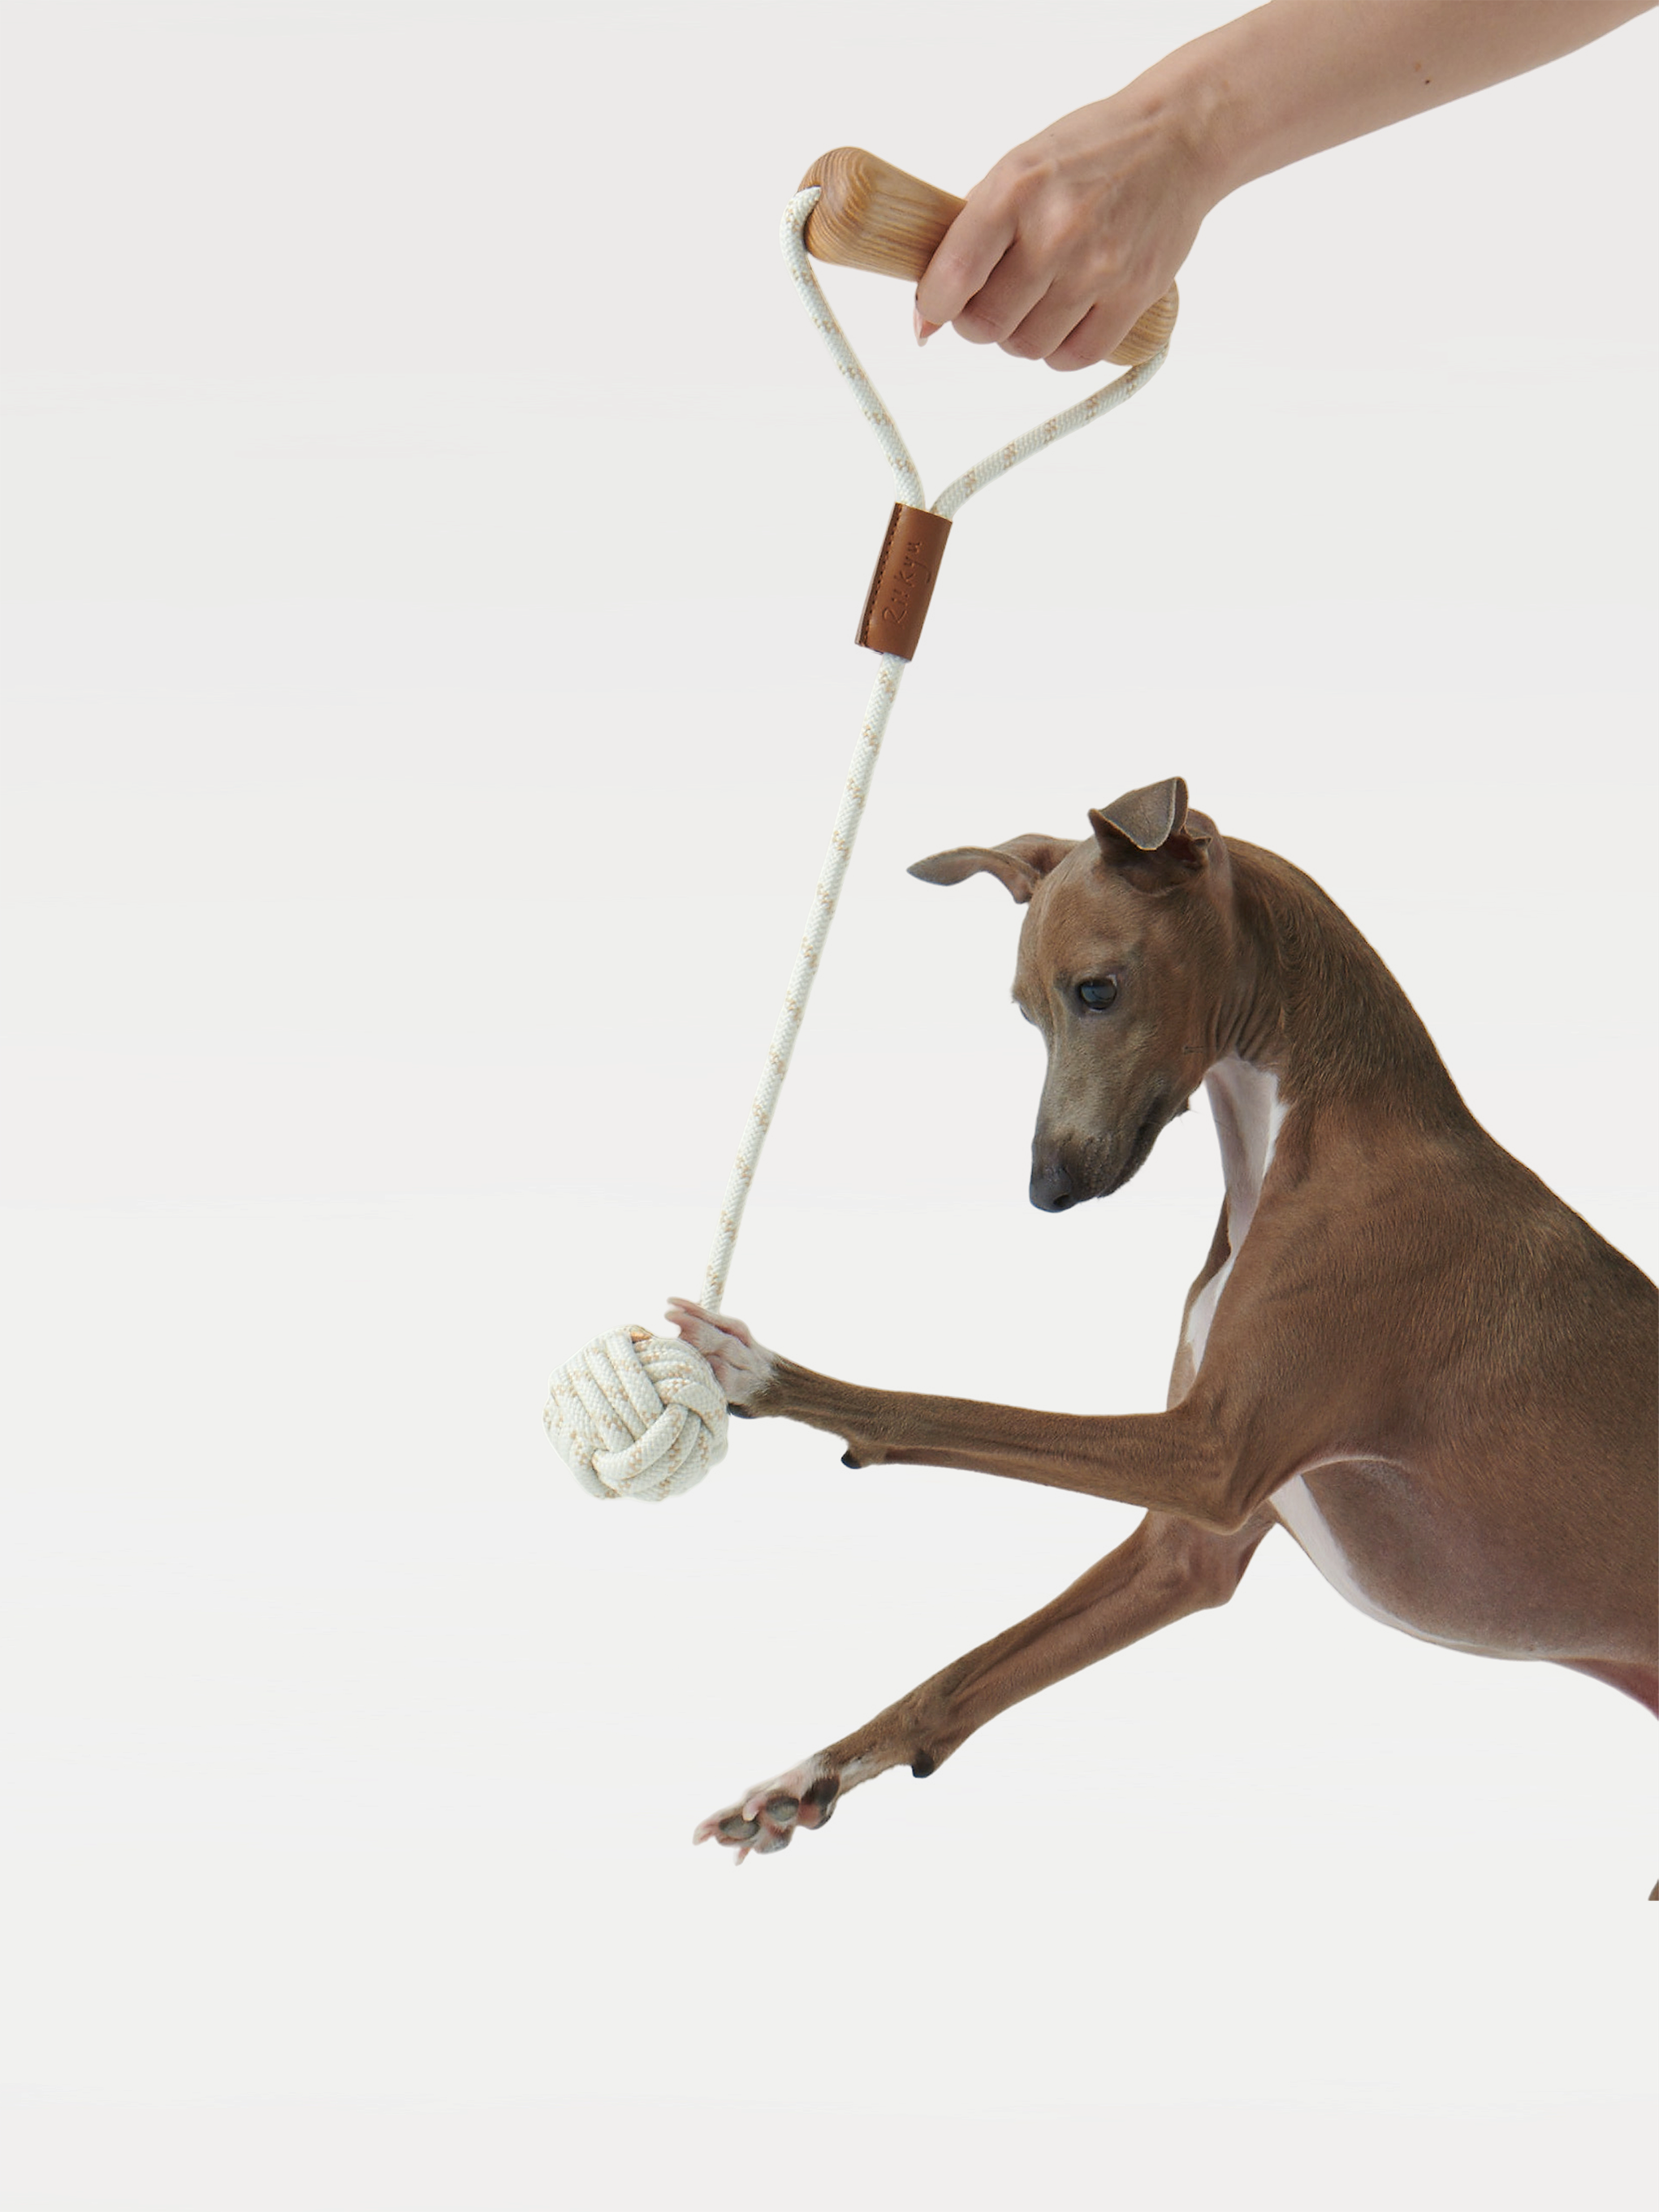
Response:
POLYGON ((827 1429, 847 1440, 847 1467, 962 1467, 1175 1513, 1217 1535, 1239 1531, 1290 1473, 1243 1464, 1208 1369, 1166 1413, 1037 1413, 838 1383, 757 1345, 741 1321, 684 1298, 670 1303, 668 1318, 708 1358, 739 1413, 827 1429))

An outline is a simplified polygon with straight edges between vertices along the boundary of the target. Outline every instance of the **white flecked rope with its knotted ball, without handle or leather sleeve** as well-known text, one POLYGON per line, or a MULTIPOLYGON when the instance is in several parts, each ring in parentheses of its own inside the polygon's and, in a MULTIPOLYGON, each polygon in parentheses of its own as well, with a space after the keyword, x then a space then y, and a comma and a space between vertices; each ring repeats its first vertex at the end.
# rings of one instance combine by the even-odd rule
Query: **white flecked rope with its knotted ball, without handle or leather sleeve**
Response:
MULTIPOLYGON (((858 411, 869 422, 876 445, 894 471, 900 502, 927 509, 922 480, 916 473, 916 462, 909 458, 909 447, 847 343, 847 334, 823 296, 818 276, 807 259, 805 226, 816 204, 818 188, 812 186, 805 192, 796 192, 783 210, 783 259, 790 265, 812 327, 847 380, 858 411)), ((1104 414, 1110 414, 1113 407, 1121 407, 1126 398, 1133 398, 1164 367, 1166 358, 1168 347, 1124 376, 1117 376, 1099 392, 1091 392, 1075 407, 1048 416, 1046 422, 1037 422, 1035 429, 989 453, 938 495, 931 513, 949 520, 975 491, 993 484, 1022 460, 1031 460, 1033 453, 1042 453, 1060 438, 1068 438, 1075 429, 1084 429, 1088 422, 1097 422, 1104 414)), ((876 684, 869 692, 869 706, 865 708, 865 721, 852 754, 852 768, 847 770, 836 825, 830 832, 830 852, 818 872, 807 927, 783 991, 783 1011, 765 1048, 765 1066, 759 1091, 750 1102, 743 1146, 732 1161, 732 1175, 721 1199, 714 1250, 708 1256, 703 1276, 703 1305, 710 1314, 721 1310, 726 1296, 726 1276, 732 1265, 743 1206, 754 1186, 754 1168, 772 1128, 772 1113, 783 1088, 783 1077, 790 1073, 794 1040, 801 1033, 801 1020, 807 1011, 830 922, 836 918, 836 900, 847 876, 854 838, 858 836, 858 823, 869 799, 869 781, 876 772, 876 757, 880 754, 887 717, 898 697, 898 681, 905 675, 905 666, 894 653, 883 653, 876 666, 876 684)), ((544 1420, 546 1433, 562 1458, 597 1498, 675 1498, 679 1491, 688 1491, 695 1482, 701 1482, 708 1469, 726 1453, 726 1396, 714 1380, 714 1369, 684 1340, 653 1336, 650 1329, 639 1327, 608 1329, 586 1352, 566 1360, 553 1376, 544 1420)))

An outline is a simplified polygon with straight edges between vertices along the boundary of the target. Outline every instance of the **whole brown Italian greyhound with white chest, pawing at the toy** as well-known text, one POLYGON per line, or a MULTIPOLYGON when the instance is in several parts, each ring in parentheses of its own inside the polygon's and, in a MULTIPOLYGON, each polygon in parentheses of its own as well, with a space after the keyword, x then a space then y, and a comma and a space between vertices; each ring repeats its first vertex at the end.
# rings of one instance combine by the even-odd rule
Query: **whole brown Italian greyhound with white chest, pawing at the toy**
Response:
MULTIPOLYGON (((860 1389, 672 1301, 732 1409, 847 1467, 964 1467, 1144 1506, 1042 1613, 710 1814, 781 1851, 887 1767, 933 1774, 1006 1705, 1225 1604, 1283 1524, 1352 1604, 1659 1712, 1659 1296, 1473 1119, 1405 991, 1301 869, 1221 838, 1175 776, 918 860, 1026 909, 1013 998, 1048 1046, 1031 1203, 1104 1199, 1203 1084, 1225 1199, 1164 1413, 860 1389)), ((1655 1889, 1659 1898, 1659 1889, 1655 1889)))

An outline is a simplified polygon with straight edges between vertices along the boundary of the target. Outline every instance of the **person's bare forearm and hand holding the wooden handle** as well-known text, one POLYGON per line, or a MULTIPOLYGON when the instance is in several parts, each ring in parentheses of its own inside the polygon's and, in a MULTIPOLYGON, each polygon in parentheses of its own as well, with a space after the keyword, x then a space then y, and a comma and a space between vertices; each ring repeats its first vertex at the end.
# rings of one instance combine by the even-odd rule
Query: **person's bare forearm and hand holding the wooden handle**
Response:
POLYGON ((1517 77, 1655 0, 1267 0, 973 188, 916 294, 916 334, 1082 369, 1117 345, 1241 184, 1517 77))

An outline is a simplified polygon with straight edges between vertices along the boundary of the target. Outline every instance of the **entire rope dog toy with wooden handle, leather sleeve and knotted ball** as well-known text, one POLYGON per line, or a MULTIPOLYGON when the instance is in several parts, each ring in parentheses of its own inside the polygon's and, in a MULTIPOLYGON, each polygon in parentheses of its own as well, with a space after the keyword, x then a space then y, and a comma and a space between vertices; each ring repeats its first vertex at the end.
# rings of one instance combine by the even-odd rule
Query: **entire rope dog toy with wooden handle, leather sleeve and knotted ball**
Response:
MULTIPOLYGON (((880 664, 836 823, 830 832, 830 852, 818 872, 807 927, 750 1104, 743 1144, 721 1199, 714 1248, 703 1274, 703 1305, 710 1314, 719 1314, 726 1296, 726 1276, 743 1206, 765 1133, 772 1126, 783 1077, 790 1073, 794 1040, 801 1033, 812 980, 818 973, 823 945, 836 914, 869 796, 869 779, 887 732, 887 717, 898 697, 898 679, 922 633, 951 522, 975 491, 993 484, 1022 460, 1031 460, 1057 438, 1068 438, 1075 429, 1097 422, 1113 407, 1133 398, 1168 358, 1179 307, 1175 285, 1146 310, 1110 354, 1128 374, 998 447, 995 453, 947 484, 929 507, 898 425, 847 345, 807 257, 905 276, 916 283, 960 208, 960 199, 922 184, 918 177, 907 177, 905 170, 878 161, 876 155, 856 146, 838 146, 812 164, 801 179, 801 190, 783 210, 783 259, 794 276, 801 305, 869 422, 876 445, 894 471, 898 500, 887 522, 856 637, 860 646, 880 655, 880 664)), ((675 1498, 701 1482, 726 1453, 726 1394, 714 1380, 714 1369, 684 1338, 657 1336, 637 1325, 606 1329, 560 1367, 553 1376, 544 1422, 577 1482, 595 1498, 650 1502, 675 1498)))

